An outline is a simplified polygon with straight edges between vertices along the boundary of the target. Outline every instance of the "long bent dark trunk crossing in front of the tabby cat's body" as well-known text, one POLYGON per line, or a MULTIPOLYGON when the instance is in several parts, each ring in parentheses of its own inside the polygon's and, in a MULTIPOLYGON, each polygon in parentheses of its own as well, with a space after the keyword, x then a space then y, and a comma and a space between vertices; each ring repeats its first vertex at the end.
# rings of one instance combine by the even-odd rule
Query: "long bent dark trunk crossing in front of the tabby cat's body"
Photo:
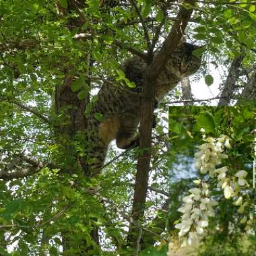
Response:
MULTIPOLYGON (((193 5, 194 1, 185 1, 193 5)), ((148 177, 150 172, 150 156, 152 149, 152 121, 153 110, 156 92, 156 79, 160 71, 165 67, 170 59, 172 51, 177 47, 181 37, 184 34, 185 28, 189 22, 193 9, 185 9, 181 7, 177 15, 177 21, 172 26, 170 33, 160 49, 160 52, 153 60, 152 56, 148 59, 152 61, 146 68, 143 79, 143 92, 141 99, 141 113, 140 113, 140 136, 139 136, 139 159, 137 163, 137 173, 135 180, 135 191, 133 197, 133 207, 131 210, 131 218, 133 222, 129 226, 129 234, 127 237, 127 244, 134 251, 137 245, 139 234, 139 222, 143 219, 146 194, 148 189, 148 177), (137 225, 134 225, 136 223, 137 225)))

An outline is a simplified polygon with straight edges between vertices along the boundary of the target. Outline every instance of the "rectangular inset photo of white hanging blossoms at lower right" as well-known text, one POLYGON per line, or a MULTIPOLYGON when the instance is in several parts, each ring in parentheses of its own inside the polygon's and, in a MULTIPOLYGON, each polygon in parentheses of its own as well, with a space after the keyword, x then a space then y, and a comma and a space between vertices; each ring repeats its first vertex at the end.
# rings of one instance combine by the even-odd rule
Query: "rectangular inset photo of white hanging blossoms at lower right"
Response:
POLYGON ((169 255, 255 255, 255 107, 168 111, 169 255))

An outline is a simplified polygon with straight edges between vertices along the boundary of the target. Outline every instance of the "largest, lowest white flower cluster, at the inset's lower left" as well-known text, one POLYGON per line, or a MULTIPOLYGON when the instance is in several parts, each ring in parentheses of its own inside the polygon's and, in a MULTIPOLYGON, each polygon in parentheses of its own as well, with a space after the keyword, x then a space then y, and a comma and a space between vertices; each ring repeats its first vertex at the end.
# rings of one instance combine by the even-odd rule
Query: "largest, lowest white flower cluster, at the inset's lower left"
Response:
POLYGON ((202 183, 201 180, 194 181, 197 185, 201 184, 201 189, 190 189, 190 195, 183 198, 184 204, 178 209, 183 213, 181 223, 175 225, 178 228, 179 236, 185 236, 181 247, 187 245, 198 245, 203 237, 203 228, 207 227, 208 217, 214 216, 213 205, 218 203, 211 200, 209 185, 202 183))

